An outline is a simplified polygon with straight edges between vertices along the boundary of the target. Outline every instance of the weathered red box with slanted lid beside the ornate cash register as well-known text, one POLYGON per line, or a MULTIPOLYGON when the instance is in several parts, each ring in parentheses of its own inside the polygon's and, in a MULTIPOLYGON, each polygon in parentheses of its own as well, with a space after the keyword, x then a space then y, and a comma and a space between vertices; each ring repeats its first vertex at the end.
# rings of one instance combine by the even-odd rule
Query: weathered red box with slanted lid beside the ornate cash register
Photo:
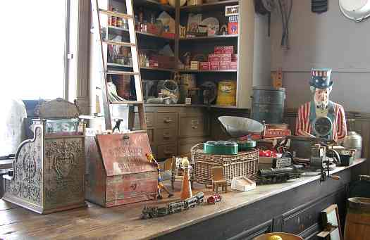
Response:
POLYGON ((85 138, 85 198, 113 207, 156 197, 158 173, 145 153, 152 153, 145 132, 95 134, 85 138))

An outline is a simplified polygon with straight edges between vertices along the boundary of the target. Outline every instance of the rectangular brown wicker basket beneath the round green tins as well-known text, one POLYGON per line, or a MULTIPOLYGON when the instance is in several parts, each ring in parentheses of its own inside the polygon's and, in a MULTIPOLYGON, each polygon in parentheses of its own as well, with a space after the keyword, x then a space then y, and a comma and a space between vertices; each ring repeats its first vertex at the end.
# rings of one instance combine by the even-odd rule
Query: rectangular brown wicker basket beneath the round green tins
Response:
POLYGON ((237 155, 214 155, 203 151, 203 144, 192 147, 195 178, 202 184, 212 184, 212 167, 223 166, 223 175, 228 183, 234 177, 246 176, 255 179, 258 170, 259 152, 240 151, 237 155))

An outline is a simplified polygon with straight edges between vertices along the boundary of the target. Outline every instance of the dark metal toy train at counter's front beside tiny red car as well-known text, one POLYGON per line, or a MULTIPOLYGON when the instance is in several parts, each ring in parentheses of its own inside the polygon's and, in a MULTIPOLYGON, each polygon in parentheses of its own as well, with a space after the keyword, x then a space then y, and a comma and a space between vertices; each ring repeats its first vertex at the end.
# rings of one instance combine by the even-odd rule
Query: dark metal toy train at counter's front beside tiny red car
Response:
POLYGON ((182 210, 195 208, 195 206, 203 203, 203 201, 204 193, 202 191, 199 191, 199 193, 195 194, 191 198, 185 199, 184 201, 175 201, 172 203, 168 203, 167 207, 159 208, 156 206, 144 206, 144 209, 142 210, 142 219, 163 217, 168 214, 181 212, 182 210))

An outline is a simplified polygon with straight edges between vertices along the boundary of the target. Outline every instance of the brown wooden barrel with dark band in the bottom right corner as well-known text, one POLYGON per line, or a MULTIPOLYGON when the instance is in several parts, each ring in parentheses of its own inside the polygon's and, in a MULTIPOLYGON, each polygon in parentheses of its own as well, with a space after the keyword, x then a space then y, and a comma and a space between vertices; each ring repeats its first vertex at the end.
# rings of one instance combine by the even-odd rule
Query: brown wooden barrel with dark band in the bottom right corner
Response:
POLYGON ((345 240, 364 240, 370 236, 370 198, 348 198, 345 240))

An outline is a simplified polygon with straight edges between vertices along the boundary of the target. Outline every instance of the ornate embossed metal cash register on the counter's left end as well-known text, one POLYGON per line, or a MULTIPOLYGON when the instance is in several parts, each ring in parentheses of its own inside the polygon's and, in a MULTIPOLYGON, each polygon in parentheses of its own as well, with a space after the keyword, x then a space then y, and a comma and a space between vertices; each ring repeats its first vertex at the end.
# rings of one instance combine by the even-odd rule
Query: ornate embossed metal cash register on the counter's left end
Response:
POLYGON ((23 141, 5 180, 4 200, 37 213, 86 206, 84 125, 76 104, 63 99, 37 107, 34 137, 23 141))

